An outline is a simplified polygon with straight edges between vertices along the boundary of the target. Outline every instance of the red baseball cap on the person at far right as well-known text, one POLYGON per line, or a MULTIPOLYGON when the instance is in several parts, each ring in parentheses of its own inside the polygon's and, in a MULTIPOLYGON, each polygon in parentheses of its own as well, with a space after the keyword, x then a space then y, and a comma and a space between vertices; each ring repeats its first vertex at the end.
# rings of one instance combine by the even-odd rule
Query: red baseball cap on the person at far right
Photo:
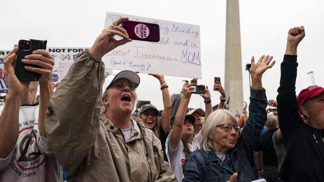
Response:
POLYGON ((297 103, 298 103, 299 110, 301 110, 301 106, 307 99, 313 98, 321 94, 322 92, 324 92, 324 88, 320 86, 310 86, 306 89, 303 89, 301 92, 299 92, 297 96, 297 103))

